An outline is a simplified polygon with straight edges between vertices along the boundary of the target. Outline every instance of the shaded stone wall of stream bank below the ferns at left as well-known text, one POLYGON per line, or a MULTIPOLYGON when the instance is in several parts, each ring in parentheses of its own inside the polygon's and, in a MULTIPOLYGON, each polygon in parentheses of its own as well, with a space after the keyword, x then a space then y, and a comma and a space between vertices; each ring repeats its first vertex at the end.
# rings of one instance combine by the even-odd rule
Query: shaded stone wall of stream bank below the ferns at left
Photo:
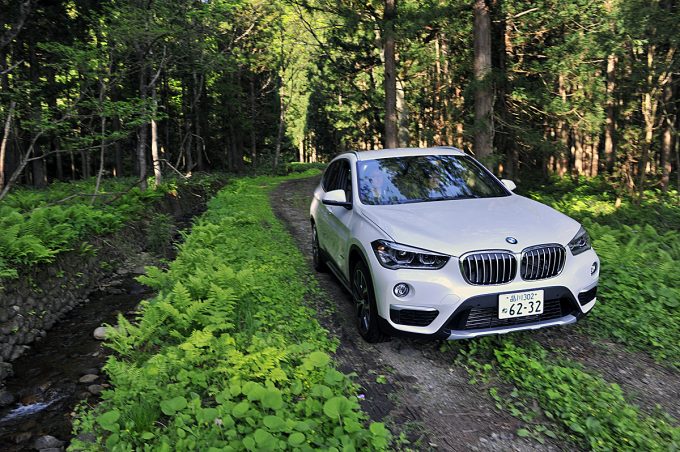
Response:
POLYGON ((54 262, 19 269, 19 277, 0 288, 0 388, 12 374, 11 362, 45 337, 56 322, 115 274, 127 256, 147 248, 149 219, 157 213, 186 218, 205 208, 208 195, 183 190, 166 195, 124 229, 83 242, 54 262))

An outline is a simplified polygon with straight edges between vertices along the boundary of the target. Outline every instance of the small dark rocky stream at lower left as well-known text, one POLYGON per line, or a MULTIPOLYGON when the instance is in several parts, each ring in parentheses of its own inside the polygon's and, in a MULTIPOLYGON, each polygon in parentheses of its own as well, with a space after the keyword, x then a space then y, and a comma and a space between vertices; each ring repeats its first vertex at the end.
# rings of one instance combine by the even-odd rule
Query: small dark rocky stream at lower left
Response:
POLYGON ((31 450, 43 435, 68 443, 73 408, 81 400, 96 402, 93 392, 106 387, 101 368, 107 349, 94 339, 93 331, 102 323, 115 324, 118 313, 129 316, 152 295, 134 275, 108 290, 90 294, 89 302, 73 309, 13 363, 14 376, 5 387, 16 400, 0 409, 0 450, 31 450), (80 383, 87 374, 98 378, 80 383))

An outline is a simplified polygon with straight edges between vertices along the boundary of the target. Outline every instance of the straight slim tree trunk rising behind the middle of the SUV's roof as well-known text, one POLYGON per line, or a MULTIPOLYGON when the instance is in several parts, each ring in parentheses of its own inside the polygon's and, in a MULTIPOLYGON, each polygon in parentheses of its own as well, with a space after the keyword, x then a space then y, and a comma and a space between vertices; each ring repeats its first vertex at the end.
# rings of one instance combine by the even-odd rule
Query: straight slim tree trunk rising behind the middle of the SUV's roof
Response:
POLYGON ((394 21, 397 18, 397 0, 385 0, 383 20, 385 33, 385 148, 398 148, 397 130, 397 62, 395 56, 394 21))

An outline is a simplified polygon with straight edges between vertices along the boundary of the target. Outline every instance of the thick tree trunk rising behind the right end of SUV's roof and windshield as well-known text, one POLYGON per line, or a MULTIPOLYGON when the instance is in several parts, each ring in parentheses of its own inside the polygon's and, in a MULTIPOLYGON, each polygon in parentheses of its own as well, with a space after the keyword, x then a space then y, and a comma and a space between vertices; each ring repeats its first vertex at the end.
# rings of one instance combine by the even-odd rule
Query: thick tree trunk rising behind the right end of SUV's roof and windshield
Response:
MULTIPOLYGON (((491 19, 485 0, 474 4, 475 156, 486 160, 493 152, 493 90, 491 86, 491 19)), ((485 164, 488 164, 485 162, 485 164)))

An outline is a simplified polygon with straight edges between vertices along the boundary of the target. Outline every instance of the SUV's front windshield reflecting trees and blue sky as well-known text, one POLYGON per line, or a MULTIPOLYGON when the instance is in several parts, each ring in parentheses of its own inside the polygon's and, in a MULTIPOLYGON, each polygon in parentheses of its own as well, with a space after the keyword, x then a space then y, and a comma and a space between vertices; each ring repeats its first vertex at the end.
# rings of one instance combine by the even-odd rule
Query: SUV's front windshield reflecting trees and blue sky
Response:
POLYGON ((474 160, 460 155, 418 155, 357 162, 363 204, 407 204, 509 196, 474 160))

